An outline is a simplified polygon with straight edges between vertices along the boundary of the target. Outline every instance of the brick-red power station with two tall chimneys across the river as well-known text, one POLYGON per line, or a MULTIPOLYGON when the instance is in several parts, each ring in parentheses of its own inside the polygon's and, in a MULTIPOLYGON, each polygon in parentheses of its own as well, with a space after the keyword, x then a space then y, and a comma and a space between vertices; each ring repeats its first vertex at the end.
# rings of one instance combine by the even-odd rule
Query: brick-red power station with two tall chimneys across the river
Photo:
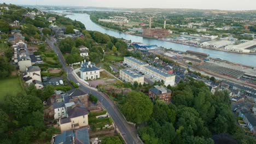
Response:
POLYGON ((142 35, 146 37, 152 37, 152 38, 164 38, 169 34, 169 31, 165 29, 166 21, 164 23, 164 28, 162 27, 155 27, 152 28, 152 18, 149 19, 149 28, 143 29, 142 35))

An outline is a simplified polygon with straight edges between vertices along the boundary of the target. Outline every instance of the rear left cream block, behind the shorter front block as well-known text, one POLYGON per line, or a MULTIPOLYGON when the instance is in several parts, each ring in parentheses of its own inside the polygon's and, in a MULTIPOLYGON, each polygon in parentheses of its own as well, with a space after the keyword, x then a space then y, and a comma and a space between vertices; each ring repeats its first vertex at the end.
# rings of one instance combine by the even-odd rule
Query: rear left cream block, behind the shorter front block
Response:
POLYGON ((142 70, 142 68, 144 66, 149 65, 148 63, 143 62, 134 57, 124 57, 124 63, 126 63, 127 65, 130 65, 131 67, 134 67, 138 70, 142 70))

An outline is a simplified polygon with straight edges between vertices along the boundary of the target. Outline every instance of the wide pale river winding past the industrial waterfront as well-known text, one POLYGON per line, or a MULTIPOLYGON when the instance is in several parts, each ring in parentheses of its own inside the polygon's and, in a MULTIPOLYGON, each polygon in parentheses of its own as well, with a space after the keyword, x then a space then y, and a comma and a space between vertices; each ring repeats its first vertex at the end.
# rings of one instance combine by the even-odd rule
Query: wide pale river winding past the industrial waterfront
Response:
POLYGON ((203 53, 209 54, 210 57, 213 57, 213 58, 222 58, 226 61, 256 67, 256 55, 246 55, 246 54, 240 54, 240 53, 231 53, 231 52, 216 51, 216 50, 210 50, 210 49, 202 49, 200 47, 181 45, 181 44, 170 43, 167 41, 162 41, 157 39, 139 37, 137 35, 120 33, 120 32, 105 29, 101 26, 96 25, 96 23, 90 20, 90 15, 88 14, 74 13, 73 15, 67 15, 66 17, 69 17, 72 20, 77 20, 84 23, 86 29, 90 31, 98 31, 101 33, 106 33, 116 38, 124 38, 127 40, 131 40, 132 42, 139 42, 144 44, 155 44, 158 46, 166 47, 167 49, 171 48, 173 50, 179 50, 179 51, 192 50, 197 52, 203 52, 203 53))

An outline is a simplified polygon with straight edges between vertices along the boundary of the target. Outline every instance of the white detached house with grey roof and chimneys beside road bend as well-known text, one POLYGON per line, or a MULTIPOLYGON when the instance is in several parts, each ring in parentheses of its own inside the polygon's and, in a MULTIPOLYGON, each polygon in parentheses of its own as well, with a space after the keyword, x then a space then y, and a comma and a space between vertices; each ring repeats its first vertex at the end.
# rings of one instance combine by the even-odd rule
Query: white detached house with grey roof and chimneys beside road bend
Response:
POLYGON ((80 66, 80 77, 83 80, 94 80, 100 78, 100 69, 95 66, 95 63, 82 62, 80 66))

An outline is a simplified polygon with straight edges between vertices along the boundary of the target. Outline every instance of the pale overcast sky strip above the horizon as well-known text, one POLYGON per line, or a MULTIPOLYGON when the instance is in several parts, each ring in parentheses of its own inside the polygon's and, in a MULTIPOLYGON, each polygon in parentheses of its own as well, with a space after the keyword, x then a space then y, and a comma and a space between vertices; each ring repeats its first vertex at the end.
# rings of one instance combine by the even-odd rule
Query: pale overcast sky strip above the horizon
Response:
POLYGON ((111 8, 256 10, 256 0, 0 0, 1 3, 111 8))

